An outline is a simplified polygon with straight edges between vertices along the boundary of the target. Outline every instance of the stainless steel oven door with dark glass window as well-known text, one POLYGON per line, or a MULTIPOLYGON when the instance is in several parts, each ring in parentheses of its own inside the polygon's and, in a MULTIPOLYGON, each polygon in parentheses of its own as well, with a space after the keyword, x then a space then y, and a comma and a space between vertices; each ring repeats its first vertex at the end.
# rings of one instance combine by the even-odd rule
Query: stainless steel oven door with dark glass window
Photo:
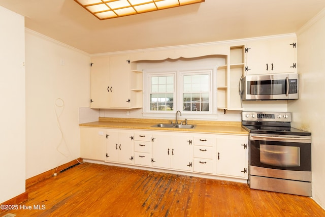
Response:
POLYGON ((250 134, 251 175, 294 179, 304 173, 311 173, 310 136, 250 134))

